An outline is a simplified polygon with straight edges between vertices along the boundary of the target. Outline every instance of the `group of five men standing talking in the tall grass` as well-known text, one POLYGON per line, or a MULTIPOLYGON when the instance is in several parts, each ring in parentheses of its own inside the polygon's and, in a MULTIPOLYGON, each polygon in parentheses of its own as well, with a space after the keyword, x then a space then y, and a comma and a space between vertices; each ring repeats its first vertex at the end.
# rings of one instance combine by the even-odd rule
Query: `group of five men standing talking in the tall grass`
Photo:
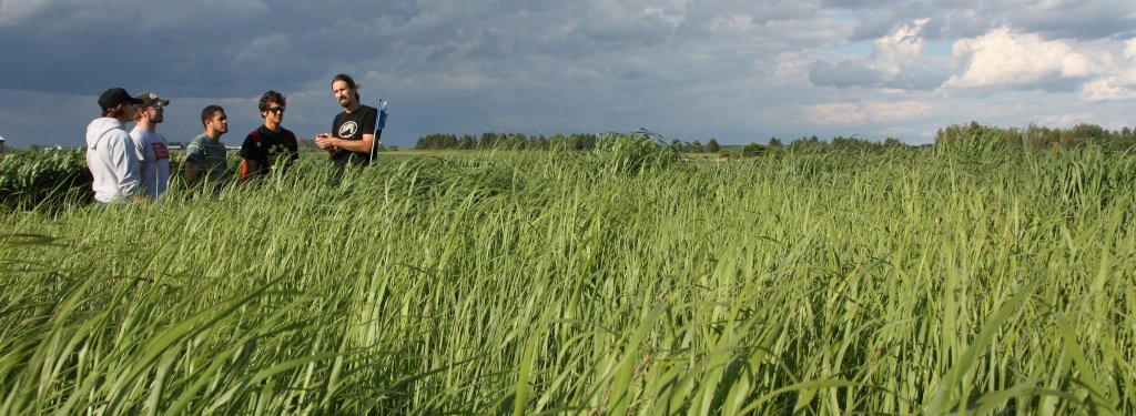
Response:
MULTIPOLYGON (((327 152, 336 168, 366 166, 373 158, 377 140, 375 131, 378 109, 359 101, 359 85, 344 74, 332 80, 332 93, 343 107, 335 116, 331 133, 316 135, 316 145, 327 152)), ((286 100, 276 91, 260 97, 264 125, 245 136, 237 153, 241 157, 240 182, 286 170, 300 158, 292 131, 284 128, 286 100)), ((158 199, 169 184, 169 148, 157 132, 169 100, 152 92, 131 95, 112 88, 99 97, 101 117, 86 127, 86 161, 94 177, 92 189, 100 206, 158 199), (126 123, 135 122, 128 133, 126 123)), ((189 186, 219 192, 229 180, 225 144, 220 136, 228 132, 228 117, 220 106, 201 110, 204 132, 185 147, 184 178, 189 186)))

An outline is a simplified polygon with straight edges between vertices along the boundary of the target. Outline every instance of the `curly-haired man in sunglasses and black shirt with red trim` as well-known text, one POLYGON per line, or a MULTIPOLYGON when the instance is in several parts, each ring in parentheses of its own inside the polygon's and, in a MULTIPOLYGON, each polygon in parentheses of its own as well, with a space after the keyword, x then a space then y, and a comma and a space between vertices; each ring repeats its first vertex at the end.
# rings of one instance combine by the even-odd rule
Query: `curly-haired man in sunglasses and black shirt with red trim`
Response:
POLYGON ((244 159, 241 163, 241 182, 272 172, 284 172, 300 159, 295 134, 281 126, 285 103, 284 95, 276 91, 260 95, 260 117, 265 119, 265 125, 249 133, 241 145, 239 155, 244 159))

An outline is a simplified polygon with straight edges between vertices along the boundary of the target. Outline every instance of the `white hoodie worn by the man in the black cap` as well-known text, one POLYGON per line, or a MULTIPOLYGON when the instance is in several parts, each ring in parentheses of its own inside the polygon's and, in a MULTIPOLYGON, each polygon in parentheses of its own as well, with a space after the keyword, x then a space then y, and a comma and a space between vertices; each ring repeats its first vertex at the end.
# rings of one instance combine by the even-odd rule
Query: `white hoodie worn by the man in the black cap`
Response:
POLYGON ((117 118, 95 118, 86 126, 86 165, 94 176, 91 188, 99 202, 123 202, 126 197, 144 192, 134 141, 117 118))

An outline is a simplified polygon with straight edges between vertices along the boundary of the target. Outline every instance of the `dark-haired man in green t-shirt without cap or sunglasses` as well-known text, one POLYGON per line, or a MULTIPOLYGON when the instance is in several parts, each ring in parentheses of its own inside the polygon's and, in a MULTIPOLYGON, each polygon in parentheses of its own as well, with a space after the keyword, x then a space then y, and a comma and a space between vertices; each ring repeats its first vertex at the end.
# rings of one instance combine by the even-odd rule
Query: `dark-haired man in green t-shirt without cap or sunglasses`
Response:
POLYGON ((228 181, 228 163, 222 134, 228 132, 228 116, 220 106, 209 106, 201 110, 201 124, 206 132, 185 145, 185 184, 190 188, 208 184, 214 193, 219 193, 228 181))

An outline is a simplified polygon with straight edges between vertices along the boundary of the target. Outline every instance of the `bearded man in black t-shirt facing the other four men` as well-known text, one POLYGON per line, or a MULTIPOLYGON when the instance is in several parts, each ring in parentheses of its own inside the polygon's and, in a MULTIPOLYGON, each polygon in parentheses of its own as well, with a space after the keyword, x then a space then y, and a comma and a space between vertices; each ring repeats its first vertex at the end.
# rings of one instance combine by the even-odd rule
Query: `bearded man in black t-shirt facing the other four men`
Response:
POLYGON ((332 93, 343 113, 335 115, 331 133, 316 136, 316 144, 327 151, 336 167, 369 165, 374 157, 378 109, 359 102, 359 85, 348 75, 340 74, 332 80, 332 93))

